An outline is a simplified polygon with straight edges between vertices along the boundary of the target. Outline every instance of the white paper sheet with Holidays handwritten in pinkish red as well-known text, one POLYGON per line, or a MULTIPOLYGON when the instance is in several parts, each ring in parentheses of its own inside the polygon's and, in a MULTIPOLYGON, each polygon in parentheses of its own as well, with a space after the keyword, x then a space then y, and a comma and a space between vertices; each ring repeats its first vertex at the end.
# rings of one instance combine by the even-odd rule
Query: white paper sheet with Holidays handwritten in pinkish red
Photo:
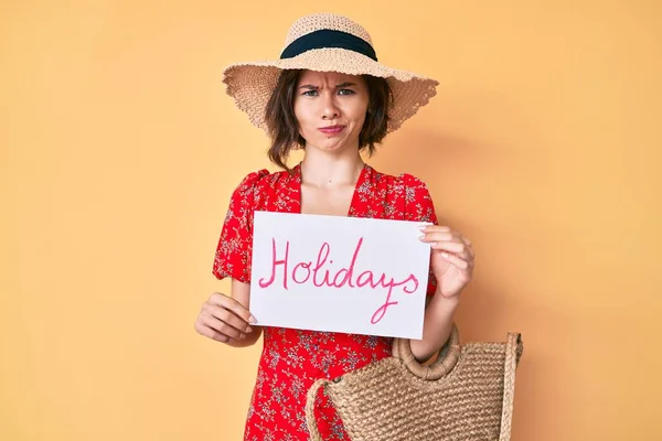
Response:
POLYGON ((257 324, 420 338, 430 258, 418 239, 424 224, 256 212, 257 324))

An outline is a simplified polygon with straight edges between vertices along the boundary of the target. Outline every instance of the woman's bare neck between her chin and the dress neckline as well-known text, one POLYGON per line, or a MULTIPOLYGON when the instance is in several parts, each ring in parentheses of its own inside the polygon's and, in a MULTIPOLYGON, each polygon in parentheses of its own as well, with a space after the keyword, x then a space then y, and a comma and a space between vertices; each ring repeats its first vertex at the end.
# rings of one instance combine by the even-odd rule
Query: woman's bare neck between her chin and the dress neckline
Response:
POLYGON ((307 149, 301 162, 301 178, 305 184, 318 187, 353 185, 364 165, 359 149, 342 154, 307 149))

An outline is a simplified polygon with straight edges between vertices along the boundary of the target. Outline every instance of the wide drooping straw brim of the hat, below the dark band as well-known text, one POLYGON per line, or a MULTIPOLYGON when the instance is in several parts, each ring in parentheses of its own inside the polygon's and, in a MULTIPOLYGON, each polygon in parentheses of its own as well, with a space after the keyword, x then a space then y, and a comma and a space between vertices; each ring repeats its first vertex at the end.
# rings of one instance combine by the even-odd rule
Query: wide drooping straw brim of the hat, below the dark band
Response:
POLYGON ((436 95, 439 83, 410 72, 385 66, 369 56, 345 49, 307 51, 291 58, 235 63, 223 72, 226 93, 248 115, 250 122, 267 131, 267 103, 284 69, 339 72, 386 78, 393 93, 387 132, 397 130, 436 95))

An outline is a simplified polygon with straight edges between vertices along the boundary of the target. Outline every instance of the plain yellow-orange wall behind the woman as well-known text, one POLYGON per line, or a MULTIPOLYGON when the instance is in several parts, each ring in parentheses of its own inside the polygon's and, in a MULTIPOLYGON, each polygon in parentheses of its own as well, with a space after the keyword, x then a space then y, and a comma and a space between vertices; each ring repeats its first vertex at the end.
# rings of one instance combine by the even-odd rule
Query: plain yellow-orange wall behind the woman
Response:
MULTIPOLYGON (((223 66, 345 13, 439 94, 371 163, 474 243, 463 341, 524 335, 513 440, 660 440, 658 1, 4 1, 0 439, 239 440, 259 347, 195 334, 269 166, 223 66)), ((274 170, 271 168, 271 170, 274 170)))

